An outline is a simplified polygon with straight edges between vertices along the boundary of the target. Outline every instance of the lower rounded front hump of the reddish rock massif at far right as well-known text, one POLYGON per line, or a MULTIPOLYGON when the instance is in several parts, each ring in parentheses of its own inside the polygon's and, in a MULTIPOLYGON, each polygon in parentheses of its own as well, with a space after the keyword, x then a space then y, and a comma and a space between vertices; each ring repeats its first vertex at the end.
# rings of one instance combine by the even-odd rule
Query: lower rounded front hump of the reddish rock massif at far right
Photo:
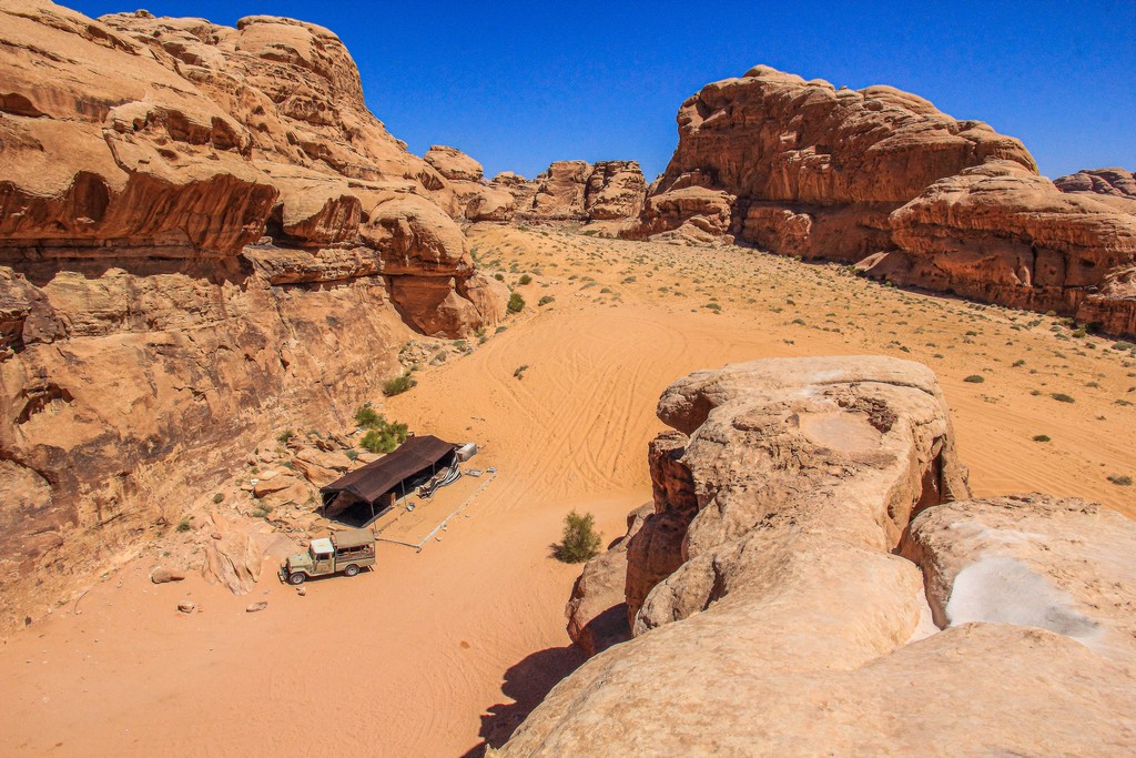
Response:
POLYGON ((1136 259, 1136 218, 1006 161, 932 184, 891 223, 900 250, 864 261, 870 275, 1080 318, 1104 276, 1136 259))

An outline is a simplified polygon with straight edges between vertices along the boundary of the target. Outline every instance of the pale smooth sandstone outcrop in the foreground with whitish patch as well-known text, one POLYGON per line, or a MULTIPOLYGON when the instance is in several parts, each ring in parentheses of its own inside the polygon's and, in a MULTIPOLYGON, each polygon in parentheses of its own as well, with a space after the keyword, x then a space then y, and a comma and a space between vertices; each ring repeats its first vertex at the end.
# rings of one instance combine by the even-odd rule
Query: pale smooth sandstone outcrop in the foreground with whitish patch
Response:
POLYGON ((676 382, 659 416, 634 639, 498 755, 1128 750, 1136 527, 1075 499, 966 500, 929 369, 755 361, 676 382))

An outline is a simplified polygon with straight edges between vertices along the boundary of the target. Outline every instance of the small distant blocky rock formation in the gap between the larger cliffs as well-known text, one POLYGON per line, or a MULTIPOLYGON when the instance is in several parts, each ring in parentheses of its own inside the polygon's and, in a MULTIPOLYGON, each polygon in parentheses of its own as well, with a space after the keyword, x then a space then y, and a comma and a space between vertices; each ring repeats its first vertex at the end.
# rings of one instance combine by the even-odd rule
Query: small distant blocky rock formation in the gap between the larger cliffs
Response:
POLYGON ((513 195, 521 220, 625 220, 638 216, 646 197, 643 170, 634 160, 558 160, 532 181, 506 173, 493 184, 513 195))

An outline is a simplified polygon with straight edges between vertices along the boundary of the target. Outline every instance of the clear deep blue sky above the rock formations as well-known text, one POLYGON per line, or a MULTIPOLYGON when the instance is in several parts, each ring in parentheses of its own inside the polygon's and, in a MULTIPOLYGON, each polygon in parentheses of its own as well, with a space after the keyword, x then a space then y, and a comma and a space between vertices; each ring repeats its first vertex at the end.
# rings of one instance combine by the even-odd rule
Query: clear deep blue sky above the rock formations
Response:
POLYGON ((677 142, 678 106, 755 64, 853 89, 891 84, 1020 138, 1042 173, 1136 169, 1136 1, 324 2, 75 0, 292 16, 346 43, 371 110, 410 149, 451 144, 492 176, 560 159, 636 159, 677 142))

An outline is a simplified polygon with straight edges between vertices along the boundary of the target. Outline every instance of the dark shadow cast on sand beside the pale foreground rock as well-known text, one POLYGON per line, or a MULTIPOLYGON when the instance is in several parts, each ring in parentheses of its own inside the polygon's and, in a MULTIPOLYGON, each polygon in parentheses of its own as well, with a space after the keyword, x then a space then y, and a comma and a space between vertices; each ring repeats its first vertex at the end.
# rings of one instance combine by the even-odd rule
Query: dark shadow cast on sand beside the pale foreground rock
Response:
POLYGON ((501 691, 513 702, 499 702, 482 716, 482 742, 462 758, 481 758, 486 747, 500 748, 504 744, 544 695, 585 660, 579 649, 567 645, 534 652, 510 666, 504 673, 501 691))

